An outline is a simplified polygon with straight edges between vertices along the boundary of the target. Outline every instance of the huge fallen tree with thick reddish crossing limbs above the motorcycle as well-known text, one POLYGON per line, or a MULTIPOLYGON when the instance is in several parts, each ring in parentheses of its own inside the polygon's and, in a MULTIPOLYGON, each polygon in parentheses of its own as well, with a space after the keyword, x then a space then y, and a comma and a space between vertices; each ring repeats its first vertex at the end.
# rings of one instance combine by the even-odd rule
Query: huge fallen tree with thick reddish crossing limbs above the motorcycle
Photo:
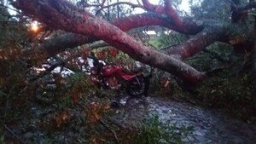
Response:
MULTIPOLYGON (((183 63, 183 59, 199 53, 214 42, 244 43, 253 35, 253 29, 244 25, 241 20, 248 13, 248 9, 255 8, 255 2, 241 6, 230 1, 232 8, 236 8, 232 9, 230 21, 180 17, 172 7, 171 0, 166 0, 164 6, 153 5, 148 0, 142 2, 134 7, 146 9, 150 13, 130 15, 112 22, 102 20, 66 0, 16 0, 13 5, 53 29, 73 32, 44 40, 44 43, 35 48, 46 57, 56 55, 67 48, 103 40, 131 58, 170 72, 188 84, 201 82, 206 78, 206 72, 198 72, 183 63), (159 51, 145 46, 125 33, 132 28, 150 25, 164 26, 172 31, 193 36, 180 45, 159 51)), ((105 1, 101 4, 104 6, 105 1)))

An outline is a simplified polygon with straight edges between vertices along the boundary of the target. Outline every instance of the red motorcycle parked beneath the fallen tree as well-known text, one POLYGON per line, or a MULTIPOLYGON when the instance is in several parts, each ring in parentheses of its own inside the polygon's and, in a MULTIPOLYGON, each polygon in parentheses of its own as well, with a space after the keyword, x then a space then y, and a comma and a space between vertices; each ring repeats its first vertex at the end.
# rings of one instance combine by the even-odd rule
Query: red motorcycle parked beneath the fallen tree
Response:
POLYGON ((132 96, 148 95, 149 80, 148 77, 143 76, 142 72, 129 73, 120 65, 104 65, 94 53, 91 53, 89 58, 93 60, 91 76, 97 79, 99 86, 106 89, 125 89, 132 96))

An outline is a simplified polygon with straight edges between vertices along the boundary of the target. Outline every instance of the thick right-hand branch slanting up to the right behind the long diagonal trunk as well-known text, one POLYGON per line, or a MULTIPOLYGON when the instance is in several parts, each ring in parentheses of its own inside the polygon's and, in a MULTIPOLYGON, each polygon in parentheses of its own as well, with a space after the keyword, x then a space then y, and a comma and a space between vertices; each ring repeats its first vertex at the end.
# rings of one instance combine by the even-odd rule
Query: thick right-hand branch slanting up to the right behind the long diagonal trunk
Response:
MULTIPOLYGON (((213 23, 208 21, 206 23, 213 23)), ((193 56, 214 42, 223 42, 235 45, 252 41, 253 30, 243 24, 230 24, 215 22, 208 26, 194 37, 176 47, 162 49, 166 55, 174 55, 178 60, 183 60, 193 56)))

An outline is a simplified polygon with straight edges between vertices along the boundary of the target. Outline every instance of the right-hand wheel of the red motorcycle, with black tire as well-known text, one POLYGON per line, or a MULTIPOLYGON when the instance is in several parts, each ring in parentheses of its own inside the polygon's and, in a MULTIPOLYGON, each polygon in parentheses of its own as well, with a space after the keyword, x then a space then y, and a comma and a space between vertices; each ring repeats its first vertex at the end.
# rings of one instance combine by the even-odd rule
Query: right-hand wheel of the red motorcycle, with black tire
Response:
POLYGON ((126 92, 131 96, 143 95, 145 92, 145 85, 145 79, 143 76, 132 78, 127 84, 126 92))

